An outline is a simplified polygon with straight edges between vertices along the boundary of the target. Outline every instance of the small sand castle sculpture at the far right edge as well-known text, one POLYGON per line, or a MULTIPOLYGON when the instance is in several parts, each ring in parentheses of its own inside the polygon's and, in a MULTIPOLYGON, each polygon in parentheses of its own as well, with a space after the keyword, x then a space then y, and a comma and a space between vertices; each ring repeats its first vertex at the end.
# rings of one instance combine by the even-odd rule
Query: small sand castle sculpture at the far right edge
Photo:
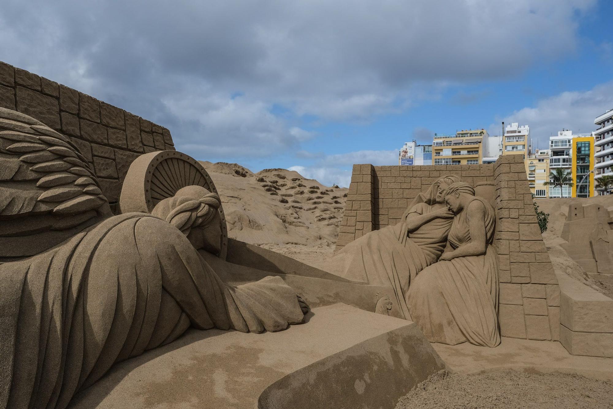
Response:
POLYGON ((588 273, 613 274, 613 209, 572 202, 562 229, 562 247, 588 273))

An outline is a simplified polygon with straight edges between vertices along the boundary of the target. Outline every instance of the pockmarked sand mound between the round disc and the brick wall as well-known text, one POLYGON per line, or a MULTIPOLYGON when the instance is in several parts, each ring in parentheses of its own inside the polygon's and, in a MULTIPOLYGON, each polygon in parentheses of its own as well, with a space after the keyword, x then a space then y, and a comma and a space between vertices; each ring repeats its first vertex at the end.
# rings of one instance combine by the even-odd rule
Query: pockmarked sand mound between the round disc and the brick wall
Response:
MULTIPOLYGON (((332 251, 348 189, 324 186, 293 170, 253 174, 237 164, 200 164, 221 196, 229 237, 272 248, 289 243, 332 251)), ((317 258, 308 253, 311 260, 317 258)))

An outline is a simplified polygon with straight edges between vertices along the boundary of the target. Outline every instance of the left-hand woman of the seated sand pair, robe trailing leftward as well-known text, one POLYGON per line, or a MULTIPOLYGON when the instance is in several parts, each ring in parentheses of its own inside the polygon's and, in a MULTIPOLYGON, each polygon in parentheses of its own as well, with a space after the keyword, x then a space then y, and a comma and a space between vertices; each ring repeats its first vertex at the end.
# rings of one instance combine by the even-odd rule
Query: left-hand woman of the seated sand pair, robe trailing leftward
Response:
POLYGON ((330 271, 349 280, 391 286, 402 318, 411 319, 405 295, 417 274, 435 263, 447 243, 454 214, 444 204, 444 192, 460 178, 436 180, 409 204, 400 223, 369 232, 338 251, 330 271))

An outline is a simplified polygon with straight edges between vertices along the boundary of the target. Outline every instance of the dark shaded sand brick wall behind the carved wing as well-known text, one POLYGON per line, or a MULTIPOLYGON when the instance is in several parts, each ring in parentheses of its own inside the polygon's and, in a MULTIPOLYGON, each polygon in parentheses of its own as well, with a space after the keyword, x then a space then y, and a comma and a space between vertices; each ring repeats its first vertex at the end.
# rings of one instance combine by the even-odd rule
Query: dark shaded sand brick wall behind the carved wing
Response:
POLYGON ((132 161, 142 153, 175 149, 168 129, 1 61, 0 107, 70 137, 94 167, 113 211, 132 161))

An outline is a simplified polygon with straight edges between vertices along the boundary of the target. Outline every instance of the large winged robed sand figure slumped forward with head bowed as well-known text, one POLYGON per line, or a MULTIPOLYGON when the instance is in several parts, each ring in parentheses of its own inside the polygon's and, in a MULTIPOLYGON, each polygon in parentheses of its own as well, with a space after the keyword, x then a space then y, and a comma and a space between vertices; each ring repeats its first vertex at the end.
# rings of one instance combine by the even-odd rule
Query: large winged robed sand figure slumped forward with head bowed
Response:
POLYGON ((232 287, 219 197, 186 187, 113 216, 67 137, 0 109, 0 408, 64 408, 115 362, 188 327, 280 331, 307 307, 278 277, 232 287))

